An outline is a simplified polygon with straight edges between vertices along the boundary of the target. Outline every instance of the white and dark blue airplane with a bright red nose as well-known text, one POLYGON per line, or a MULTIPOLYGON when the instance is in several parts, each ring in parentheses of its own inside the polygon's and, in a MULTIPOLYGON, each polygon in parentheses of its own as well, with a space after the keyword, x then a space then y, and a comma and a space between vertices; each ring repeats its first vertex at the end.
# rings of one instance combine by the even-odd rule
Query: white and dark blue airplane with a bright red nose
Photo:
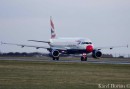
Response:
POLYGON ((82 54, 81 61, 87 61, 87 54, 92 53, 93 58, 100 58, 102 56, 101 49, 113 49, 118 47, 128 47, 127 46, 111 46, 111 47, 98 47, 94 48, 92 41, 89 38, 83 37, 64 37, 58 38, 55 32, 54 23, 50 17, 51 26, 51 39, 49 41, 39 41, 39 40, 28 40, 33 42, 47 43, 50 47, 43 46, 32 46, 14 43, 3 43, 8 45, 17 45, 23 47, 34 47, 36 49, 43 48, 50 52, 53 60, 59 60, 61 54, 82 54))

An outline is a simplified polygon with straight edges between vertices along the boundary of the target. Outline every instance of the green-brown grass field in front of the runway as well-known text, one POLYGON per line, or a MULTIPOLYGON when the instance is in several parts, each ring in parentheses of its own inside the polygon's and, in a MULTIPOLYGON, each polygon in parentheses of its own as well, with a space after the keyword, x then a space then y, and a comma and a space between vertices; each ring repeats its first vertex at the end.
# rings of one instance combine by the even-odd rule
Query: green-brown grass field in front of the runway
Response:
POLYGON ((0 89, 98 89, 130 84, 130 65, 0 61, 0 89))

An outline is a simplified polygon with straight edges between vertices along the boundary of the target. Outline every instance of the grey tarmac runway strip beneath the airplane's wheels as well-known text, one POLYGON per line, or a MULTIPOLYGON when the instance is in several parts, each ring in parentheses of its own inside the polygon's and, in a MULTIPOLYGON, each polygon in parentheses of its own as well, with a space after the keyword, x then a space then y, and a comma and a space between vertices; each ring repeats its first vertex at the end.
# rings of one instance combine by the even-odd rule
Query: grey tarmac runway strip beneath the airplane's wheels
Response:
POLYGON ((39 61, 39 62, 65 62, 65 63, 95 63, 95 64, 130 64, 130 58, 88 58, 87 61, 81 61, 80 58, 61 57, 58 61, 50 57, 0 57, 0 60, 15 61, 39 61))

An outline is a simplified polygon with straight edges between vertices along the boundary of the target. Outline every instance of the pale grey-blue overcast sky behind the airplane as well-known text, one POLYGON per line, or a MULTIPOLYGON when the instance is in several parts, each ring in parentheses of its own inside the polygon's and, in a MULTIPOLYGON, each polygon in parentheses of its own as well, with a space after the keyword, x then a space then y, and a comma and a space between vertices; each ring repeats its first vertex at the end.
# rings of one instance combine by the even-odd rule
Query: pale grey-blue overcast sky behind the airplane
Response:
MULTIPOLYGON (((95 47, 130 45, 130 0, 0 0, 0 41, 47 46, 50 16, 58 37, 87 37, 95 47)), ((2 52, 45 49, 0 46, 2 52)), ((130 48, 103 50, 130 54, 130 48)))

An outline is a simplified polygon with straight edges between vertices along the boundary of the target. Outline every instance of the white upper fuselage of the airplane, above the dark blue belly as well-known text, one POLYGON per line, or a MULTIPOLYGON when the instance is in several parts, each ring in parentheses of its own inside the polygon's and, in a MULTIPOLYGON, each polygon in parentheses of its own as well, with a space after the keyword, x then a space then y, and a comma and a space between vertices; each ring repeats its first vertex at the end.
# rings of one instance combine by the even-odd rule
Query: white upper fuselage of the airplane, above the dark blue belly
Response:
POLYGON ((91 45, 92 41, 88 38, 56 38, 50 39, 51 48, 64 49, 86 49, 86 46, 91 45))

